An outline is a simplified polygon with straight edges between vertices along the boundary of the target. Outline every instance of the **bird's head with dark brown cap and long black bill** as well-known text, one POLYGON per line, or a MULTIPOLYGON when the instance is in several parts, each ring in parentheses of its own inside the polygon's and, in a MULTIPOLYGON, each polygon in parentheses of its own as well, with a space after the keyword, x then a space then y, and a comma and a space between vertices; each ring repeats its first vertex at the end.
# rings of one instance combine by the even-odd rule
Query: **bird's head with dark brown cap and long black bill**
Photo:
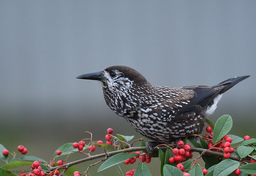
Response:
POLYGON ((138 71, 128 66, 110 66, 102 71, 85 73, 76 77, 85 80, 101 81, 103 88, 112 91, 125 91, 134 84, 143 84, 147 82, 145 77, 138 71))

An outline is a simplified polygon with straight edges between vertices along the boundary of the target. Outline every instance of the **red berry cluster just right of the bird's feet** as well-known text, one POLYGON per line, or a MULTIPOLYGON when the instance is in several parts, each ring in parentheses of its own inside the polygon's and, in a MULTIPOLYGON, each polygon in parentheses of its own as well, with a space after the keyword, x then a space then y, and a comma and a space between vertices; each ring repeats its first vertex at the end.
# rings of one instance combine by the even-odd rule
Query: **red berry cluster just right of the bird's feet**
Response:
MULTIPOLYGON (((180 147, 180 149, 178 148, 174 148, 172 150, 172 153, 174 154, 174 157, 170 157, 169 158, 169 162, 170 163, 179 163, 179 162, 183 162, 186 160, 186 157, 192 158, 193 157, 193 151, 190 151, 190 145, 189 144, 185 144, 182 140, 177 142, 178 146, 180 147)), ((179 168, 180 169, 180 168, 179 168)), ((184 169, 184 168, 183 168, 184 169)), ((182 170, 183 170, 182 169, 182 170)))

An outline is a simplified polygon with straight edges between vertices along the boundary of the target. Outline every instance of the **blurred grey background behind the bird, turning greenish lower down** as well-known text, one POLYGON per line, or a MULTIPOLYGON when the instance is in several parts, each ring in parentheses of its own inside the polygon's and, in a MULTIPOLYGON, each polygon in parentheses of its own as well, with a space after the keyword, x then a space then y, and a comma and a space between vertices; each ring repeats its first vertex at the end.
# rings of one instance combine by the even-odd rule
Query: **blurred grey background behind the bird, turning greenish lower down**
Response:
POLYGON ((85 131, 94 140, 109 127, 141 137, 108 108, 97 81, 75 79, 113 65, 174 87, 251 75, 209 119, 230 114, 233 134, 255 136, 255 7, 253 0, 0 0, 0 143, 49 160, 85 131))

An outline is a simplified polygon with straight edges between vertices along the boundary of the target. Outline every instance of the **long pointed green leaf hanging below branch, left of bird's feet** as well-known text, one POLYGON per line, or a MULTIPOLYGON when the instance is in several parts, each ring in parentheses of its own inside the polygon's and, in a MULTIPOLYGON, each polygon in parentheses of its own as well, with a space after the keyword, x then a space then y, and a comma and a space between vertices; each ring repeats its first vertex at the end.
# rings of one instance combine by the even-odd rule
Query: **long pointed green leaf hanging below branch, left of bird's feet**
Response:
POLYGON ((100 165, 97 172, 103 171, 105 169, 112 167, 113 165, 117 165, 117 164, 125 161, 126 159, 137 157, 137 156, 139 156, 139 155, 127 154, 127 153, 116 154, 116 155, 112 156, 111 158, 109 158, 107 161, 105 161, 102 165, 100 165))

